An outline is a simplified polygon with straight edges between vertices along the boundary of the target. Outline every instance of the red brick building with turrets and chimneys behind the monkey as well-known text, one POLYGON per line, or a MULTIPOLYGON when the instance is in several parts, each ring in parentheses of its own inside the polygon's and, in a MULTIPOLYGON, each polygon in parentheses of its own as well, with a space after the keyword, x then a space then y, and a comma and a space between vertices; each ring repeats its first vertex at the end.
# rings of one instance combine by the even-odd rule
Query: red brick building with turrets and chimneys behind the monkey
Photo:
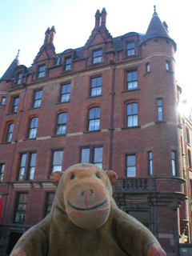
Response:
POLYGON ((146 34, 113 38, 103 8, 85 46, 56 54, 53 26, 30 68, 17 56, 2 75, 2 254, 49 213, 50 174, 78 162, 117 172, 118 206, 167 255, 190 242, 192 122, 178 115, 176 43, 167 29, 154 10, 146 34))

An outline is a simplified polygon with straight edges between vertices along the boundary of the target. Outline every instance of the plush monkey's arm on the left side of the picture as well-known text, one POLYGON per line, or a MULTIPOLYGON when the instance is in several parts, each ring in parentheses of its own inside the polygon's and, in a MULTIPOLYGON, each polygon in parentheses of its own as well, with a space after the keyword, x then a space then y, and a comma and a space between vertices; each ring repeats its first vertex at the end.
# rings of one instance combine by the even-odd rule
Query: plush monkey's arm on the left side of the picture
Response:
POLYGON ((46 234, 35 226, 22 235, 10 256, 45 256, 47 250, 46 234))

